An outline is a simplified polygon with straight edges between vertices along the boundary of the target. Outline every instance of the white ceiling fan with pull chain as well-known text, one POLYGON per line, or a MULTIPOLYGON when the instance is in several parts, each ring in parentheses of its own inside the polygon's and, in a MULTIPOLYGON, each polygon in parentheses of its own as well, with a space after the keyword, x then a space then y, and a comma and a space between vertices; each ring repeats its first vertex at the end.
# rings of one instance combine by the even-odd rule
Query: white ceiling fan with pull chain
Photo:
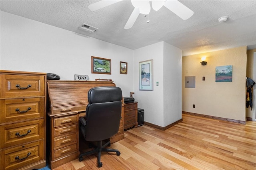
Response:
MULTIPOLYGON (((88 8, 95 11, 120 1, 122 0, 100 0, 94 4, 90 4, 88 8)), ((192 10, 184 6, 178 0, 131 0, 134 10, 126 22, 124 29, 132 28, 139 14, 145 14, 145 16, 149 14, 151 9, 150 1, 152 8, 155 11, 158 11, 162 6, 165 6, 183 20, 187 20, 194 14, 192 10)), ((149 20, 147 22, 149 22, 149 20)))

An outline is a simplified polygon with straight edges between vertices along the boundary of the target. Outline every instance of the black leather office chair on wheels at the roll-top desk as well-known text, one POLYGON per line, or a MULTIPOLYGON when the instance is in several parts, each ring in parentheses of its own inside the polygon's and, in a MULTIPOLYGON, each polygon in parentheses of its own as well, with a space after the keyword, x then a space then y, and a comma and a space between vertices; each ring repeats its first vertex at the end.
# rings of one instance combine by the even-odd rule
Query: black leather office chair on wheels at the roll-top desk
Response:
POLYGON ((110 146, 108 140, 119 130, 122 111, 122 91, 119 87, 95 87, 88 91, 88 102, 86 107, 86 117, 80 118, 80 132, 84 139, 89 142, 97 141, 95 149, 79 155, 79 161, 84 155, 98 153, 98 167, 102 167, 100 162, 101 152, 121 153, 116 149, 107 149, 110 146), (102 140, 108 140, 102 146, 102 140))

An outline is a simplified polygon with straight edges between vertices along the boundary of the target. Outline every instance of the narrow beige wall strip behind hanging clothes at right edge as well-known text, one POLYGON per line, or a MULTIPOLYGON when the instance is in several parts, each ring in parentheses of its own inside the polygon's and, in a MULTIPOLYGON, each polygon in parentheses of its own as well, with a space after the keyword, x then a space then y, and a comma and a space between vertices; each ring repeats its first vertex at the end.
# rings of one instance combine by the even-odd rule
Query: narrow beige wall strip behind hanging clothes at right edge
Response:
MULTIPOLYGON (((253 63, 254 63, 254 52, 256 52, 256 49, 251 49, 247 51, 247 68, 246 68, 246 76, 250 77, 251 79, 253 79, 253 77, 255 76, 253 74, 253 63)), ((255 85, 253 88, 256 88, 255 85)), ((256 99, 253 99, 256 100, 256 99)), ((255 102, 254 102, 255 103, 255 102)), ((252 105, 252 107, 254 107, 254 105, 252 105)), ((255 108, 255 107, 254 107, 255 108)), ((250 117, 252 118, 252 110, 251 108, 246 108, 246 117, 250 117)))

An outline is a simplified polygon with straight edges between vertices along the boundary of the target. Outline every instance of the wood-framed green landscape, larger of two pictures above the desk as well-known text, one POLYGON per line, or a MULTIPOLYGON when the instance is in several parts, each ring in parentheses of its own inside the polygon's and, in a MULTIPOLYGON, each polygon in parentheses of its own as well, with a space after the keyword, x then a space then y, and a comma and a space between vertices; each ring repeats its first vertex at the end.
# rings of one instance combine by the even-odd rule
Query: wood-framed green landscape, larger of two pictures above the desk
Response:
POLYGON ((111 74, 111 59, 92 56, 92 73, 111 74))

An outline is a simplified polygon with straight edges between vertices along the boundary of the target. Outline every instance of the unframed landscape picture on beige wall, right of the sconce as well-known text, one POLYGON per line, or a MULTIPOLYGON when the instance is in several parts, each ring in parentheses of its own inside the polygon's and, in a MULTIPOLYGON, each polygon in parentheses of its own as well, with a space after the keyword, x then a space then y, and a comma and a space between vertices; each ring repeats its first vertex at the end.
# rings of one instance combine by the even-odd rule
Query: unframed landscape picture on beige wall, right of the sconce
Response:
POLYGON ((232 65, 217 66, 215 82, 232 82, 232 65))

